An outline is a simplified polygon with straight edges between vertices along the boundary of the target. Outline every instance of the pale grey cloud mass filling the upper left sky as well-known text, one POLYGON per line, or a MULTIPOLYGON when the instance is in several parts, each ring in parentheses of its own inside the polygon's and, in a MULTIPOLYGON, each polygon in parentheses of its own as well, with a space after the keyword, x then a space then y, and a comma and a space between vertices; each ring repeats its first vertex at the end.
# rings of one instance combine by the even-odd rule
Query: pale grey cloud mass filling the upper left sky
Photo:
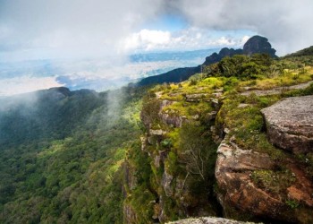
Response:
POLYGON ((0 1, 0 53, 5 48, 21 59, 28 59, 26 50, 38 59, 114 55, 120 39, 154 18, 161 2, 0 1))

